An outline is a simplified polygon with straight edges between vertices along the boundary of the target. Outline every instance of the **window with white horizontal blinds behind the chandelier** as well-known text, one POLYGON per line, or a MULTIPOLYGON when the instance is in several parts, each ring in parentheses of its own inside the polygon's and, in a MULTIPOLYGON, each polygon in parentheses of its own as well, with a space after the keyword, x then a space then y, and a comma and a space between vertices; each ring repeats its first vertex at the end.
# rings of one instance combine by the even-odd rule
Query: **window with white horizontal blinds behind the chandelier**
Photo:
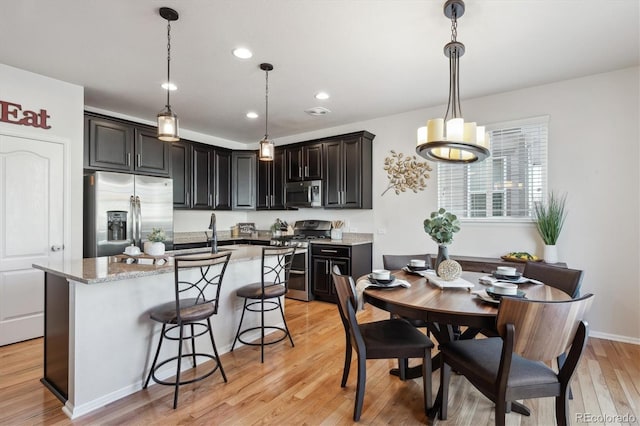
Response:
POLYGON ((549 117, 487 126, 491 156, 480 163, 438 163, 438 206, 461 219, 534 217, 547 192, 549 117))

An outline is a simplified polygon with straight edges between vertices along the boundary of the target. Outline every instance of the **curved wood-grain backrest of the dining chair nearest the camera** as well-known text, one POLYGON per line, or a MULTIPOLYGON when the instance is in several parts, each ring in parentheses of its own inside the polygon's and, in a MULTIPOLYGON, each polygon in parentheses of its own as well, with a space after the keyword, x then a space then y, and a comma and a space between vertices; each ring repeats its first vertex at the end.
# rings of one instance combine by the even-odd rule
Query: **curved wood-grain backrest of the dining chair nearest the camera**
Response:
POLYGON ((592 300, 592 294, 561 302, 503 297, 498 311, 498 332, 504 337, 506 324, 513 324, 513 351, 527 359, 550 361, 571 346, 592 300))

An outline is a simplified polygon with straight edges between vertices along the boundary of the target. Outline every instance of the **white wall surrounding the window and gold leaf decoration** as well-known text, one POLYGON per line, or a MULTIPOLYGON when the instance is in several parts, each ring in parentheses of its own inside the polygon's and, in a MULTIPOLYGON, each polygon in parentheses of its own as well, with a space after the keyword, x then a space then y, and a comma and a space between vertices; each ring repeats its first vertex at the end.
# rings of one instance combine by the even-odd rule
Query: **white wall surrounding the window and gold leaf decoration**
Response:
MULTIPOLYGON (((549 189, 568 194, 568 218, 558 252, 569 267, 584 269, 582 292, 596 302, 589 315, 593 335, 640 343, 640 69, 567 80, 483 98, 463 100, 463 116, 490 124, 550 116, 549 189)), ((445 88, 443 88, 445 90, 445 88)), ((444 106, 281 138, 276 144, 368 130, 373 141, 372 210, 253 212, 248 220, 267 228, 285 220, 342 219, 358 232, 373 232, 374 267, 383 253, 435 253, 422 221, 437 207, 436 167, 418 194, 389 191, 382 169, 394 149, 415 151, 416 129, 442 116, 444 106)), ((542 255, 532 224, 463 223, 450 254, 500 256, 510 251, 542 255)))

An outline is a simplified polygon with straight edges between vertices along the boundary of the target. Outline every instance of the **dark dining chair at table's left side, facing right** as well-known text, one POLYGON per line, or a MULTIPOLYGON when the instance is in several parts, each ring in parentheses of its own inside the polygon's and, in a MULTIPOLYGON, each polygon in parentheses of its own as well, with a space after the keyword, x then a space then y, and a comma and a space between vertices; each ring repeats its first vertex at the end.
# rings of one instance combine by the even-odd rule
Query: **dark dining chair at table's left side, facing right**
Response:
POLYGON ((353 279, 348 275, 332 272, 338 295, 338 310, 345 331, 345 356, 341 387, 347 385, 353 350, 358 356, 358 380, 353 420, 360 420, 367 380, 367 359, 421 358, 424 410, 431 404, 431 349, 433 342, 403 319, 388 319, 370 323, 358 323, 356 318, 356 291, 353 279))

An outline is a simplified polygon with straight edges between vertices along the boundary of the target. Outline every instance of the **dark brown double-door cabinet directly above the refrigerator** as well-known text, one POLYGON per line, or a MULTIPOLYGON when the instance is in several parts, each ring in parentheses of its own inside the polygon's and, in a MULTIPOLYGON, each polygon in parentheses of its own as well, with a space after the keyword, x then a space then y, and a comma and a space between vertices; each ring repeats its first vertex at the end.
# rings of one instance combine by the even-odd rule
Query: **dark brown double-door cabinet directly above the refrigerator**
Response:
POLYGON ((85 114, 84 148, 86 169, 169 176, 171 144, 150 126, 85 114))

